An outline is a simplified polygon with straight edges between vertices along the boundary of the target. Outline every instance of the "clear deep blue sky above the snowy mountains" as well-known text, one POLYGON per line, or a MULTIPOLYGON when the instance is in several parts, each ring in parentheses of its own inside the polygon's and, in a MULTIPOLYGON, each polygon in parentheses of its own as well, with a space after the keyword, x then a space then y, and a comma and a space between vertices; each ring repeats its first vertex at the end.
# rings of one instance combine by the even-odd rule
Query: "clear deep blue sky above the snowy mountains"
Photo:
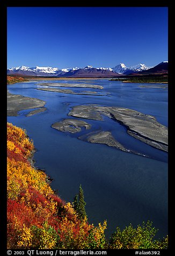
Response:
POLYGON ((156 66, 167 61, 166 7, 9 7, 8 68, 156 66))

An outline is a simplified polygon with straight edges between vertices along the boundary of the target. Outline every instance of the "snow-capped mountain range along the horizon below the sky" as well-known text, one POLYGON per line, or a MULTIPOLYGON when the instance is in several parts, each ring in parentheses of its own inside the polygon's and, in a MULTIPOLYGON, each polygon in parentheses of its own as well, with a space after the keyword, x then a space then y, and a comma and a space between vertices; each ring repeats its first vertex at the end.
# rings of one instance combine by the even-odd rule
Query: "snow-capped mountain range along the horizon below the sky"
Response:
POLYGON ((168 62, 163 61, 155 67, 147 67, 144 64, 138 64, 132 67, 125 66, 124 63, 113 68, 95 68, 86 66, 84 68, 63 68, 57 67, 13 67, 7 69, 8 75, 17 76, 56 76, 56 77, 117 77, 132 74, 160 74, 168 73, 168 62))

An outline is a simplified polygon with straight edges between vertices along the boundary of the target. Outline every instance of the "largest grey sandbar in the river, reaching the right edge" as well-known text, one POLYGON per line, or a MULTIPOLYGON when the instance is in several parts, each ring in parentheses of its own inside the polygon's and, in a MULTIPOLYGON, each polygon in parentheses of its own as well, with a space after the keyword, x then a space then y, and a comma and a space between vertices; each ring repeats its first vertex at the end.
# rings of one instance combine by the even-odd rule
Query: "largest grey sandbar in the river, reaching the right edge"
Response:
POLYGON ((68 116, 93 120, 103 120, 103 115, 124 125, 130 136, 159 150, 168 151, 168 129, 158 123, 154 116, 132 109, 95 104, 74 106, 68 113, 68 116))

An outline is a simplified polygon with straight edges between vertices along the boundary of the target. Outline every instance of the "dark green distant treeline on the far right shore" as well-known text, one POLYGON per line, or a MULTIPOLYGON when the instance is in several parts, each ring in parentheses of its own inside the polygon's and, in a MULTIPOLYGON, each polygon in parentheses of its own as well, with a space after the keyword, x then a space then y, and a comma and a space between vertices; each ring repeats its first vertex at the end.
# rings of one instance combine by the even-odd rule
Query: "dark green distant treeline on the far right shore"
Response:
POLYGON ((130 76, 111 79, 110 81, 122 81, 130 83, 167 83, 168 76, 130 76))

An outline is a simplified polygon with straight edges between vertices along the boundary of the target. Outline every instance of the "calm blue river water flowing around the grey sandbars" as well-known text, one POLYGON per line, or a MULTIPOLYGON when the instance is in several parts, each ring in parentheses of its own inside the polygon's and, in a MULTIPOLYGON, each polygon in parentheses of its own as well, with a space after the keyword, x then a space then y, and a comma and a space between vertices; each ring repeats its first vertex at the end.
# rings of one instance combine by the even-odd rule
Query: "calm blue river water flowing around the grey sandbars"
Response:
POLYGON ((116 226, 125 228, 148 219, 159 229, 157 237, 167 234, 167 153, 157 150, 129 136, 126 128, 105 117, 104 121, 85 120, 94 130, 111 131, 123 146, 140 155, 122 152, 113 147, 91 144, 77 139, 91 130, 68 134, 51 127, 68 117, 74 105, 100 104, 120 106, 155 116, 167 126, 167 85, 122 83, 119 81, 77 80, 52 81, 63 83, 99 84, 103 90, 91 88, 61 88, 74 91, 97 91, 105 96, 72 95, 36 90, 37 83, 25 82, 8 86, 9 92, 46 101, 47 110, 26 117, 31 110, 19 111, 18 117, 8 117, 8 122, 27 130, 34 140, 37 152, 36 166, 43 168, 54 179, 52 188, 58 190, 65 201, 73 201, 82 184, 86 212, 90 223, 97 225, 107 219, 109 237, 116 226), (157 88, 155 88, 157 86, 157 88))

